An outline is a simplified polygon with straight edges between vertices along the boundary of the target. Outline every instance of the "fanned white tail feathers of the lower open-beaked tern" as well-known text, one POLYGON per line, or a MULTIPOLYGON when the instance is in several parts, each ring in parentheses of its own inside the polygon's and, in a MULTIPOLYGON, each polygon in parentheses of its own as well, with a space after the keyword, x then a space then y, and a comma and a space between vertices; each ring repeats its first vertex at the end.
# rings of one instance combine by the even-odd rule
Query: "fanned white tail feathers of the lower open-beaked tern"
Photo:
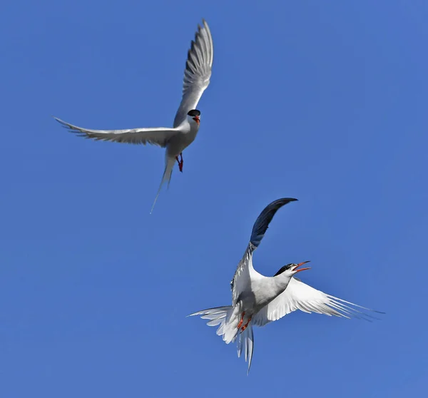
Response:
POLYGON ((238 335, 238 325, 239 325, 239 306, 232 307, 230 305, 226 307, 215 307, 208 308, 208 310, 202 310, 198 312, 193 312, 193 314, 188 315, 192 317, 194 315, 199 315, 203 320, 210 320, 208 326, 218 326, 217 335, 223 337, 223 341, 226 344, 230 342, 235 342, 238 337, 238 357, 245 350, 245 362, 248 362, 248 372, 250 372, 251 360, 253 359, 253 348, 254 348, 254 335, 253 335, 253 325, 251 322, 248 323, 247 328, 240 332, 238 335))

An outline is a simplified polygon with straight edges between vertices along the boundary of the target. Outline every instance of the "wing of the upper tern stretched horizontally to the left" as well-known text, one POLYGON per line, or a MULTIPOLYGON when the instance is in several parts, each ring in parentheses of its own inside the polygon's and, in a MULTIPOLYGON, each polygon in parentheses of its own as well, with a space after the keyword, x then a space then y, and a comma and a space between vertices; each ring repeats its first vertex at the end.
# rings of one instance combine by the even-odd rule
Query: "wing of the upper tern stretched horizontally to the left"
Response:
POLYGON ((73 126, 70 123, 54 118, 72 133, 98 141, 115 141, 116 143, 146 143, 165 147, 172 136, 178 133, 178 128, 154 127, 154 128, 130 128, 128 130, 89 130, 73 126))

